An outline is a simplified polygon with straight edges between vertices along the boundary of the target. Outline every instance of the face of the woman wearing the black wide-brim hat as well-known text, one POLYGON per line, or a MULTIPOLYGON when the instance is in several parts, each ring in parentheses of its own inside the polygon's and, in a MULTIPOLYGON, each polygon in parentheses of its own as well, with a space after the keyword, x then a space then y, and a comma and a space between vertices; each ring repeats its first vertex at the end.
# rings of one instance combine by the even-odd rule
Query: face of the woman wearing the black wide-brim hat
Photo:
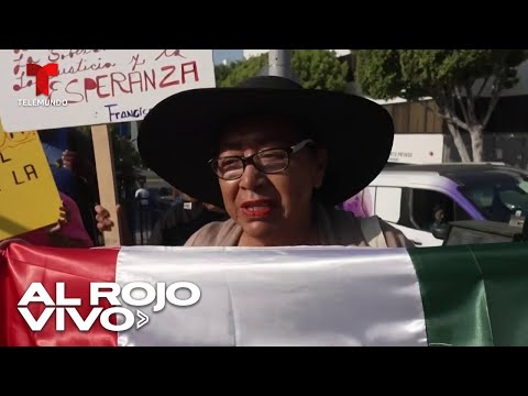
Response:
MULTIPOLYGON (((301 139, 294 127, 276 119, 234 125, 220 142, 219 156, 250 156, 265 148, 288 148, 301 139)), ((326 152, 305 146, 290 154, 289 165, 276 174, 246 165, 240 178, 219 178, 229 216, 243 229, 243 238, 258 245, 302 243, 311 228, 311 196, 322 184, 326 152)))

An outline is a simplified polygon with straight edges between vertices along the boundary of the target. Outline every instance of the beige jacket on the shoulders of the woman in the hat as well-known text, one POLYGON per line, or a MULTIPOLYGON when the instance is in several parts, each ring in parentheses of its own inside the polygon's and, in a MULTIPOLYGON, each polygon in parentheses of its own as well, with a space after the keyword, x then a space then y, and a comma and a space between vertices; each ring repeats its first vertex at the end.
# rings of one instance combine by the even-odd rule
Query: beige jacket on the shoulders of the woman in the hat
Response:
MULTIPOLYGON (((319 245, 410 248, 405 235, 377 217, 358 219, 334 208, 316 207, 319 245)), ((237 246, 242 228, 233 220, 204 226, 185 243, 186 246, 237 246)))

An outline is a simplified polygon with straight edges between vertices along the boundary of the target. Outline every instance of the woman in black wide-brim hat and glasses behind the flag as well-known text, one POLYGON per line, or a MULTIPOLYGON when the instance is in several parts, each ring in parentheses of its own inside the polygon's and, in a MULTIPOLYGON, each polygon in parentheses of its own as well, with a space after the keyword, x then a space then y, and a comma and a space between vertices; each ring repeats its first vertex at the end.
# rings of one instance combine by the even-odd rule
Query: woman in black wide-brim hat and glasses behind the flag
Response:
POLYGON ((163 100, 138 143, 162 178, 229 213, 188 246, 409 246, 377 217, 334 209, 382 170, 393 134, 371 100, 266 76, 163 100))

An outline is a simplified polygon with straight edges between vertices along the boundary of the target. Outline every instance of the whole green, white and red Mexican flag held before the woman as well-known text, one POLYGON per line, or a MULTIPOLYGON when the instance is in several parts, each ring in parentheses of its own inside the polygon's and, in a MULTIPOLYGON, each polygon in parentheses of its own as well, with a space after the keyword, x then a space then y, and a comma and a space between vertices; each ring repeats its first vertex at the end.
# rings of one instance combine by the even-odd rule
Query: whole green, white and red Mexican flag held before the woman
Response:
POLYGON ((527 243, 0 254, 0 345, 527 344, 527 243))

